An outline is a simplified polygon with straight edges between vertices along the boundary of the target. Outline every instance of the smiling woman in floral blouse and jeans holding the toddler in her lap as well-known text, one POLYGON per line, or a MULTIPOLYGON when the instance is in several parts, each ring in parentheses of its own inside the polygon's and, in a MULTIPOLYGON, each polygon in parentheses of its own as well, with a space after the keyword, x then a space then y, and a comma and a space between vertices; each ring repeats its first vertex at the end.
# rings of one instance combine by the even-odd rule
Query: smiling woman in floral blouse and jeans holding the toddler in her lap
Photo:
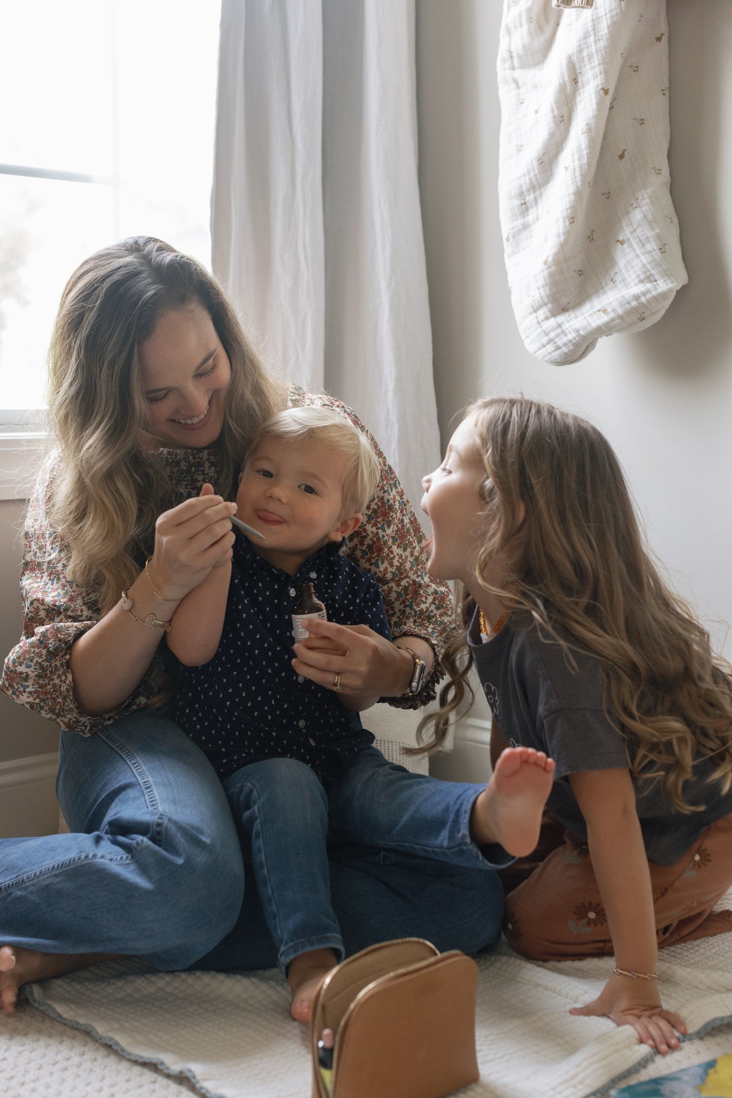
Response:
MULTIPOLYGON (((56 449, 24 536, 24 637, 0 686, 61 727, 57 793, 72 833, 2 842, 7 1011, 23 983, 109 955, 162 970, 275 963, 222 786, 162 715, 174 684, 160 641, 178 602, 230 554, 225 501, 241 456, 288 403, 337 404, 268 377, 221 288, 170 246, 134 237, 71 276, 49 356, 56 449), (201 494, 206 482, 219 494, 201 494)), ((419 526, 380 459, 348 552, 380 580, 396 639, 353 632, 348 686, 415 707, 433 696, 450 597, 426 575, 419 526), (429 676, 414 694, 405 648, 429 676)), ((303 673, 331 686, 315 640, 308 660, 303 673)), ((349 952, 406 934, 474 951, 499 933, 492 873, 339 848, 331 886, 349 952)))

